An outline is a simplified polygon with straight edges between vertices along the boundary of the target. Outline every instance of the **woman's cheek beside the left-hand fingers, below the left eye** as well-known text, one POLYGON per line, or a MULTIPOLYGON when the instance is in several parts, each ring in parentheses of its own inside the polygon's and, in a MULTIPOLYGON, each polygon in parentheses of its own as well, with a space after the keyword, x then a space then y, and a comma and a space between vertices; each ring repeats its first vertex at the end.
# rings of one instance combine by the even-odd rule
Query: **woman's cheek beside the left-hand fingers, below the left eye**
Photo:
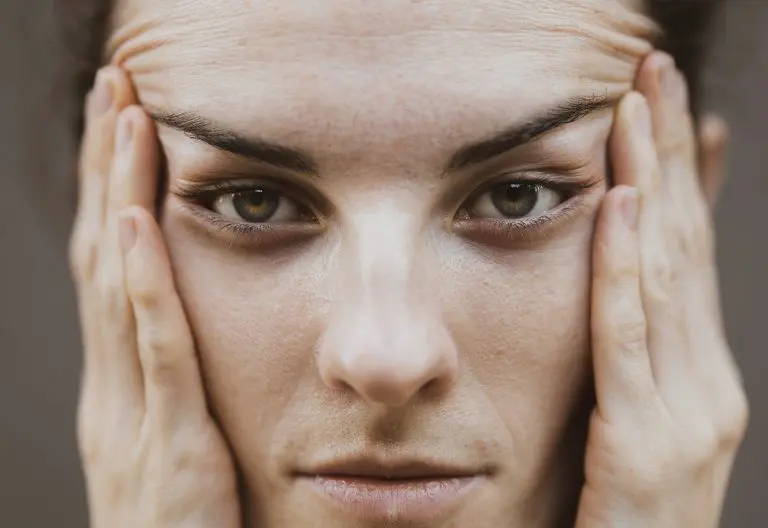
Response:
POLYGON ((172 214, 163 230, 213 411, 240 461, 266 459, 296 391, 316 378, 325 265, 228 252, 172 214))

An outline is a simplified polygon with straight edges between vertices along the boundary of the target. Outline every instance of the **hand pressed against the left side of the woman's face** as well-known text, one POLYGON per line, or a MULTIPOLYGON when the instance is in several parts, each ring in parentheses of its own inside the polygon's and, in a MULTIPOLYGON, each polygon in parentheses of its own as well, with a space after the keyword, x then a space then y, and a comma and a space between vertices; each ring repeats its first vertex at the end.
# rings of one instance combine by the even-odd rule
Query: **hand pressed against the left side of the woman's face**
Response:
POLYGON ((78 441, 92 528, 239 528, 233 459, 210 416, 152 211, 154 123, 127 75, 89 95, 70 245, 85 346, 78 441))

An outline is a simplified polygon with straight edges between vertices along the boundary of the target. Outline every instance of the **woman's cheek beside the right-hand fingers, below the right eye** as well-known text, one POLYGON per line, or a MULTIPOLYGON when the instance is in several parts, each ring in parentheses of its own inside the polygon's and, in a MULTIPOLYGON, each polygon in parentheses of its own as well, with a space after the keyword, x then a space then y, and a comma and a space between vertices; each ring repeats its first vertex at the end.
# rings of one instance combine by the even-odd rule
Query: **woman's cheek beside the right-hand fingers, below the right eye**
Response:
POLYGON ((585 218, 540 251, 459 260, 443 281, 466 371, 510 431, 516 463, 546 458, 585 390, 591 238, 585 218))

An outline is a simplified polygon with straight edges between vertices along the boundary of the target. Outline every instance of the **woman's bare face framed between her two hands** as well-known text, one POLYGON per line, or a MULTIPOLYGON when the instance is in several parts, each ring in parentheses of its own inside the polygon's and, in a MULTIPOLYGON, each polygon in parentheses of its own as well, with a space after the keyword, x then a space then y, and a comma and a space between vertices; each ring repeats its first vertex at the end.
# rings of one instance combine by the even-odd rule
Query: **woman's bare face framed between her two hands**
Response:
POLYGON ((419 526, 551 522, 578 478, 611 106, 652 30, 629 0, 118 6, 260 526, 384 525, 296 476, 353 459, 483 475, 419 526))

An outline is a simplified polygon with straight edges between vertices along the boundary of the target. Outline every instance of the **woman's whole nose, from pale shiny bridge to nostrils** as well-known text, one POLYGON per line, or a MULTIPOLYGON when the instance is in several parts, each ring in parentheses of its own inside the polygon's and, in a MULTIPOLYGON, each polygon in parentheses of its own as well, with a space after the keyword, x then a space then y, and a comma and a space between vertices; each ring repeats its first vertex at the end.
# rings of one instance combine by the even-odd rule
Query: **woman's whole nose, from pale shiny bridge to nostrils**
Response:
POLYGON ((331 387, 398 407, 427 386, 447 387, 456 351, 429 295, 422 230, 396 212, 361 219, 345 234, 338 287, 319 350, 331 387))

